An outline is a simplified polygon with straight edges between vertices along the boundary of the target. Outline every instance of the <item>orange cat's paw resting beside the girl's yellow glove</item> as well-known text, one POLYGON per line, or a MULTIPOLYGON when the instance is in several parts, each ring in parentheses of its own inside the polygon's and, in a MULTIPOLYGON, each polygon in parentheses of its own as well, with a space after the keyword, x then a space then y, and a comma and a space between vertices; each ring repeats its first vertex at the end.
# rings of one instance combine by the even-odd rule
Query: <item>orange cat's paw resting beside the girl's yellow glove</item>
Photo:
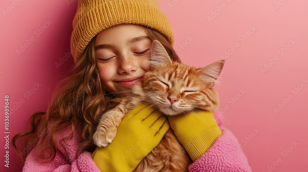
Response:
POLYGON ((106 147, 115 138, 116 131, 117 127, 114 125, 97 127, 93 135, 94 144, 98 147, 106 147))

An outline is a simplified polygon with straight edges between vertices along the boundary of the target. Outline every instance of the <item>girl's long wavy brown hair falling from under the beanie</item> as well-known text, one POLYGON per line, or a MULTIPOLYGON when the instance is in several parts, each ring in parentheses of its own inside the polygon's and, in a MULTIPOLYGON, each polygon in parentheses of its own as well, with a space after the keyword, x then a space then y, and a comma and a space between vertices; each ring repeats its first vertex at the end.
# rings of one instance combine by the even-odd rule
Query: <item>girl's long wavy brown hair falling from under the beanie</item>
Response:
MULTIPOLYGON (((152 41, 160 41, 172 61, 180 63, 177 53, 162 34, 155 29, 142 27, 152 41)), ((30 131, 14 135, 12 145, 22 162, 37 145, 40 145, 40 150, 35 151, 35 154, 43 162, 51 162, 55 158, 56 134, 68 126, 71 126, 72 133, 60 142, 72 139, 75 129, 80 128, 80 133, 75 133, 81 136, 76 158, 84 151, 95 150, 92 136, 99 117, 112 105, 112 97, 106 94, 100 84, 95 58, 95 38, 96 36, 89 42, 69 75, 58 82, 47 111, 35 112, 29 119, 30 131), (49 125, 51 122, 52 125, 49 125), (18 150, 17 143, 21 145, 21 151, 18 150)))

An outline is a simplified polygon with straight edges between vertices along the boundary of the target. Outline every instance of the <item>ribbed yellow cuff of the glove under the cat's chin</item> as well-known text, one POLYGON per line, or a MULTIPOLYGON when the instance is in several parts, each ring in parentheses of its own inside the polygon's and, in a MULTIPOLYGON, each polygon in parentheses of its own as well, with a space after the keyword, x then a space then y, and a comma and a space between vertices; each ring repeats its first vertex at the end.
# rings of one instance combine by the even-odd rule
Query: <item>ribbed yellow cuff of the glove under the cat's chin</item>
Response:
POLYGON ((190 158, 195 162, 212 147, 216 139, 221 135, 222 132, 219 127, 212 127, 183 146, 190 158))

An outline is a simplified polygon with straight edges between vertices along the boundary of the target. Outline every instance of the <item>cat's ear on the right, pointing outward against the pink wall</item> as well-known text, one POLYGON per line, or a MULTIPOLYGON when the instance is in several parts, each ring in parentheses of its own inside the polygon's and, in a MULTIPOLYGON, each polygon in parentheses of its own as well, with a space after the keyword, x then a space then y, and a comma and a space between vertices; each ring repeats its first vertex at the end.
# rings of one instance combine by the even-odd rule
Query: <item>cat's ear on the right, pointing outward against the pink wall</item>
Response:
POLYGON ((205 79, 208 88, 212 88, 214 84, 219 83, 217 79, 221 73, 222 68, 224 67, 224 64, 225 59, 217 61, 197 70, 197 72, 199 72, 205 79))

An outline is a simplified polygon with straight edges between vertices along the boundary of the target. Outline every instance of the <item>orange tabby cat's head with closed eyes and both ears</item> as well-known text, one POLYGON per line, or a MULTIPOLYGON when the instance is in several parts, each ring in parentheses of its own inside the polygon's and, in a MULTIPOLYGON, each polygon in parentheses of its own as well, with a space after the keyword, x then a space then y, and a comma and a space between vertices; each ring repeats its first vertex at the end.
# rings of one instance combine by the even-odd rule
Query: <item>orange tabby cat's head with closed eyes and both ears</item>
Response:
POLYGON ((218 93, 213 89, 224 66, 224 60, 204 68, 171 61, 159 41, 152 43, 151 70, 146 72, 141 88, 145 100, 166 115, 185 114, 195 110, 216 111, 218 93))

